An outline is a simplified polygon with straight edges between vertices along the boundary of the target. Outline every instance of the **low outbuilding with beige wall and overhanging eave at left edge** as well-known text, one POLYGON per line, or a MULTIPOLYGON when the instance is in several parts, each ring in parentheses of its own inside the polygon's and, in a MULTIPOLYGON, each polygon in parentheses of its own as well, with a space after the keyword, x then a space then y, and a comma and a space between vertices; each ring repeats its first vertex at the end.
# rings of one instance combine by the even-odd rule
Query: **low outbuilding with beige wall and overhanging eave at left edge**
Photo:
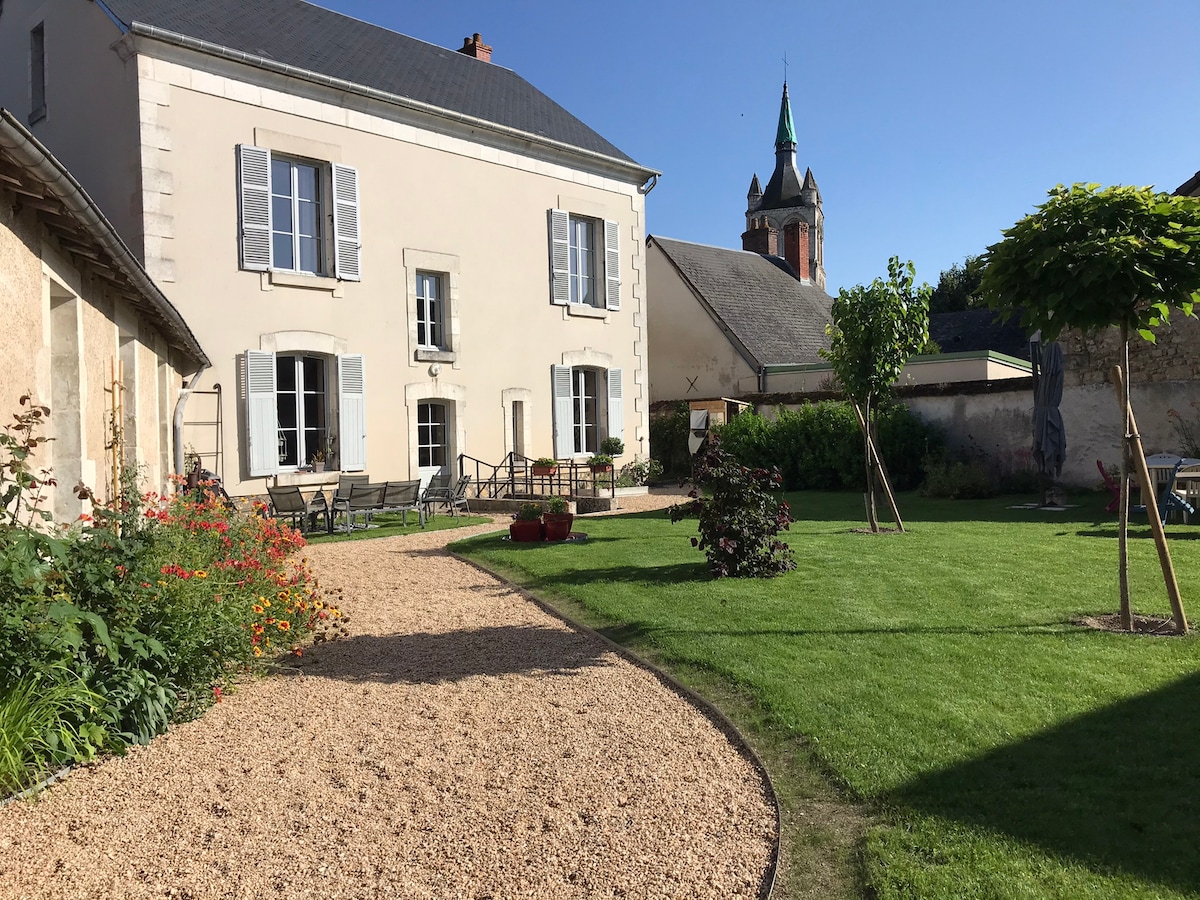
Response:
POLYGON ((209 359, 79 182, 2 108, 0 312, 0 415, 8 420, 25 394, 50 408, 52 440, 32 462, 58 481, 47 508, 55 520, 85 511, 78 482, 112 490, 114 409, 124 431, 116 462, 163 490, 180 446, 180 385, 209 359), (119 404, 116 373, 126 385, 119 404))

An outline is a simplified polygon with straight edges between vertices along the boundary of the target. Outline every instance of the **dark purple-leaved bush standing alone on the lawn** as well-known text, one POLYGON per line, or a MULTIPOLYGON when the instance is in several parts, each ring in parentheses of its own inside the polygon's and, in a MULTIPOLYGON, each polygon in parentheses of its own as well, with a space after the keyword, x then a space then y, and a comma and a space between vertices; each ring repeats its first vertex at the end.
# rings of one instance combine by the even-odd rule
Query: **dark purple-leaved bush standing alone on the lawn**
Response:
POLYGON ((769 577, 796 568, 787 545, 779 540, 792 517, 772 491, 782 484, 779 469, 751 469, 720 448, 710 436, 696 457, 696 484, 710 492, 671 508, 671 521, 700 517, 700 538, 691 545, 704 551, 715 578, 769 577))

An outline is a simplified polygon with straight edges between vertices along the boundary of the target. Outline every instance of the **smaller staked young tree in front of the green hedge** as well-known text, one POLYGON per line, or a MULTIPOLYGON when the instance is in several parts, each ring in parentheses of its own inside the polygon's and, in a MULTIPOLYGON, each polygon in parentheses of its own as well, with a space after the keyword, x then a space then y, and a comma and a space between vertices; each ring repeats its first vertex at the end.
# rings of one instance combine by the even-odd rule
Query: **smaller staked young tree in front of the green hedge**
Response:
POLYGON ((916 287, 912 260, 899 257, 888 260, 888 280, 876 278, 869 286, 842 288, 833 301, 833 323, 826 326, 829 349, 821 355, 829 360, 858 412, 866 456, 866 518, 872 532, 878 530, 875 515, 876 484, 892 506, 896 528, 904 530, 895 497, 888 485, 883 461, 875 442, 875 401, 892 389, 900 371, 929 341, 929 284, 916 287))

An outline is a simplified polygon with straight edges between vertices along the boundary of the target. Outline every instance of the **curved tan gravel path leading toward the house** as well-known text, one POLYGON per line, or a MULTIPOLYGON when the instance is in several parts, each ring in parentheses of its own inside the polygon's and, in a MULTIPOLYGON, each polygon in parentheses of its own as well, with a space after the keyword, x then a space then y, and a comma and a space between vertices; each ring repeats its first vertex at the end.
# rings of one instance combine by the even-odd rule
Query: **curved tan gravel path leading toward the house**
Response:
POLYGON ((757 773, 652 674, 444 552, 488 528, 311 547, 354 636, 0 809, 0 896, 756 896, 757 773))

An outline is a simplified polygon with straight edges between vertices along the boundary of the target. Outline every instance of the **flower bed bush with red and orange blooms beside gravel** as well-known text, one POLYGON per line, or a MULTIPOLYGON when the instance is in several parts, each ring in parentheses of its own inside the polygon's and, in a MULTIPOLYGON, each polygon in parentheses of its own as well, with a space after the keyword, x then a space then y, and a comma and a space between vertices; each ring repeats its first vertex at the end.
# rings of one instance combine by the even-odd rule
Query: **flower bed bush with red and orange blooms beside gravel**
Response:
POLYGON ((220 700, 234 674, 348 622, 292 558, 298 532, 208 490, 139 496, 126 472, 112 508, 80 486, 95 517, 35 528, 50 482, 32 469, 48 413, 36 409, 0 436, 5 792, 47 766, 149 742, 220 700))

